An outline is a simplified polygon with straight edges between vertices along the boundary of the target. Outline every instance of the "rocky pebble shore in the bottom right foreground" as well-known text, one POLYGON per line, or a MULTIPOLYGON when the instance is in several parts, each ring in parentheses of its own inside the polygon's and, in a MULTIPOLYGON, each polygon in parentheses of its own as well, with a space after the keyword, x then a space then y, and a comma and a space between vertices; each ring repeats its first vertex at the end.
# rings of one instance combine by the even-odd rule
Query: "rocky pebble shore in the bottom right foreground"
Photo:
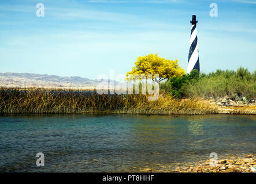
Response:
POLYGON ((199 166, 177 167, 175 173, 256 173, 256 158, 247 155, 247 158, 218 160, 216 166, 211 166, 211 160, 199 166))

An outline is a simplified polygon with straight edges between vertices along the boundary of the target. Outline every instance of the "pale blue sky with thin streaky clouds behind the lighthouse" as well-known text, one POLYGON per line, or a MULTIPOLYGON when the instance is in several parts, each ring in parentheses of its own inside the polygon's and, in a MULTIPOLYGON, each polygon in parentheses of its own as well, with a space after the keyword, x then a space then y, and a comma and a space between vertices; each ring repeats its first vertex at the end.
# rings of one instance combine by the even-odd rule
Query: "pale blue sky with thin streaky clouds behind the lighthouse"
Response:
POLYGON ((187 70, 193 14, 202 72, 256 70, 255 0, 0 0, 0 72, 96 79, 125 74, 149 53, 187 70), (209 16, 213 2, 218 17, 209 16))

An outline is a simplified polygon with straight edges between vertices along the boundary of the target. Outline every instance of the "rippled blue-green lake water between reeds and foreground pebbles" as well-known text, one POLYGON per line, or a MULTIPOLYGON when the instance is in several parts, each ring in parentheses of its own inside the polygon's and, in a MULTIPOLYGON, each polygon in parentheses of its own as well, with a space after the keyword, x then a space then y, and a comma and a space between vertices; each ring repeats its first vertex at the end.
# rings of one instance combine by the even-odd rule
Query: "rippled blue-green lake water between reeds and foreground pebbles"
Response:
POLYGON ((256 116, 0 116, 0 171, 171 171, 211 152, 256 155, 256 116))

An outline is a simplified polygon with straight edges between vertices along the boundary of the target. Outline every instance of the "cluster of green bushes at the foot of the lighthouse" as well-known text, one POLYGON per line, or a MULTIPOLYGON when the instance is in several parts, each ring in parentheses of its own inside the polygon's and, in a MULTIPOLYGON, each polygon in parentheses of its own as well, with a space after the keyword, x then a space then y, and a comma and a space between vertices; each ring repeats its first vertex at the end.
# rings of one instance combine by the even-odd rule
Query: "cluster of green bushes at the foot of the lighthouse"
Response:
POLYGON ((160 85, 160 89, 177 98, 220 98, 228 95, 232 99, 256 99, 256 71, 251 73, 240 67, 236 71, 216 70, 204 74, 193 70, 180 78, 170 78, 160 85))

